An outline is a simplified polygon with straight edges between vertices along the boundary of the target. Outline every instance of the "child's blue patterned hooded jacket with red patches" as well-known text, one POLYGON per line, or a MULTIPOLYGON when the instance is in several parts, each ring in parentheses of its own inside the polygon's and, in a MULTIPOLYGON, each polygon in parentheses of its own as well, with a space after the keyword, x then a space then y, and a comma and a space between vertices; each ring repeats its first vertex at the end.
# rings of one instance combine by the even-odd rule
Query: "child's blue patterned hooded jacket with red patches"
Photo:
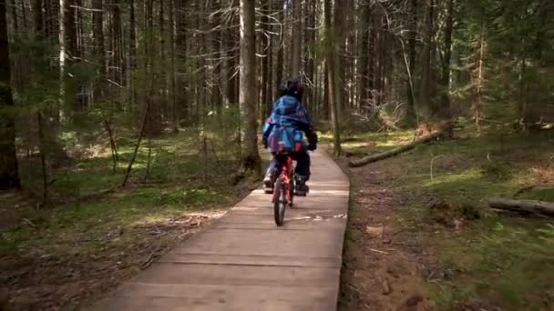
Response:
POLYGON ((263 145, 272 153, 292 153, 303 149, 303 134, 311 144, 317 143, 310 117, 302 103, 284 95, 273 103, 272 115, 263 127, 263 145))

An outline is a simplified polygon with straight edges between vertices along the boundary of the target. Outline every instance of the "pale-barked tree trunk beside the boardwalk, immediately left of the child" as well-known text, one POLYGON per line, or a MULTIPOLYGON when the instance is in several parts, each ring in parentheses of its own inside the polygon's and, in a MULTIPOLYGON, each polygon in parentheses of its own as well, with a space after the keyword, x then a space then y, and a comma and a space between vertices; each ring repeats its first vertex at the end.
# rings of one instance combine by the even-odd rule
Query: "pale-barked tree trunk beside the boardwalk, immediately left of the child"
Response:
POLYGON ((256 122, 256 36, 255 1, 241 0, 241 117, 243 167, 260 174, 262 159, 258 153, 256 122))

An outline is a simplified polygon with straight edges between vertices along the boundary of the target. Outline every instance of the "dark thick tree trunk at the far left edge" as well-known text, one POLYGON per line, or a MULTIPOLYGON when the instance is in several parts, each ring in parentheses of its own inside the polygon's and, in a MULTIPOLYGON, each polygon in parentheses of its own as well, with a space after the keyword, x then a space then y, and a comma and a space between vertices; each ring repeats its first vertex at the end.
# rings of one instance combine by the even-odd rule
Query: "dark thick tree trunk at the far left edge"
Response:
POLYGON ((0 0, 0 190, 19 188, 15 125, 8 110, 14 105, 10 88, 10 59, 5 20, 5 0, 0 0))

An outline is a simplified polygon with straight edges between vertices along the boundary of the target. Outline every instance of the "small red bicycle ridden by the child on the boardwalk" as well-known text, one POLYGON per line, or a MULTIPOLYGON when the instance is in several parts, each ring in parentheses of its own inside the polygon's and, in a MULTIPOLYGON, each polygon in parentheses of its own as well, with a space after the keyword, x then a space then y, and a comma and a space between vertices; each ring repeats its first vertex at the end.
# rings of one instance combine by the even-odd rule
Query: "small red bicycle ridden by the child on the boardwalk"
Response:
POLYGON ((273 216, 275 224, 282 226, 287 206, 292 207, 294 197, 294 165, 291 155, 277 155, 277 180, 273 184, 273 216))

